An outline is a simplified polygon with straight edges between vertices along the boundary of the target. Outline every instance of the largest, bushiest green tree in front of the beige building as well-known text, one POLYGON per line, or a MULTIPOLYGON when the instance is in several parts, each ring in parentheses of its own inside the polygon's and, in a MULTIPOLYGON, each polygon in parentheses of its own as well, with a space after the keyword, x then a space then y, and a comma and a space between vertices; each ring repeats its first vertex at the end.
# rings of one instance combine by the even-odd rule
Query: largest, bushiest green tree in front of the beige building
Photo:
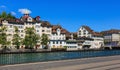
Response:
POLYGON ((26 48, 33 49, 34 46, 38 43, 40 37, 35 33, 35 29, 26 28, 26 36, 23 39, 23 44, 26 48))

